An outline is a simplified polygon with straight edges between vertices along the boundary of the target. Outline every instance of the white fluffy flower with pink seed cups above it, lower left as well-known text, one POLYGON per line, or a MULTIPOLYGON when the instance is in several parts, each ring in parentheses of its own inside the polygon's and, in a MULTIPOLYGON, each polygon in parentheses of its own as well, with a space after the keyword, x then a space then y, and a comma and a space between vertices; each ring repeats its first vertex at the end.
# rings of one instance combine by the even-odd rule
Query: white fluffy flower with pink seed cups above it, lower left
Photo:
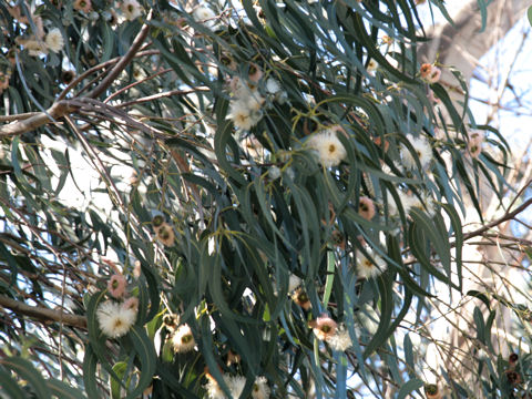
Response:
POLYGON ((125 299, 126 287, 127 282, 123 275, 113 275, 108 282, 108 293, 116 300, 109 299, 98 306, 98 323, 109 338, 126 335, 136 320, 139 299, 125 299))

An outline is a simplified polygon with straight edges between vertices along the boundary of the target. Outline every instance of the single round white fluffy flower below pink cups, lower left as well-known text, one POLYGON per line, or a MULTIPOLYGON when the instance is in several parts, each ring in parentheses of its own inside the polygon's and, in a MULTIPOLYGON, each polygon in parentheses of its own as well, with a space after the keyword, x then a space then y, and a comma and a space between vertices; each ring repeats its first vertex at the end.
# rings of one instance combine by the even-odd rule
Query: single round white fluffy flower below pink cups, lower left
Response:
POLYGON ((136 319, 136 310, 106 300, 98 306, 96 318, 103 334, 110 338, 117 338, 127 334, 133 326, 136 319))

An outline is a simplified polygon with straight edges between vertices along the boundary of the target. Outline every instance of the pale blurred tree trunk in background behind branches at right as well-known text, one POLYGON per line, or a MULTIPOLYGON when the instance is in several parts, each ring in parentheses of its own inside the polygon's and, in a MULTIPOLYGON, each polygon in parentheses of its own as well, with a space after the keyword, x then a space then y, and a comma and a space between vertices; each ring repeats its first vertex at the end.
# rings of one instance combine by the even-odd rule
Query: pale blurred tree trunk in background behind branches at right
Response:
MULTIPOLYGON (((477 1, 468 1, 453 17, 454 25, 444 23, 427 31, 427 35, 431 40, 419 48, 419 59, 421 62, 438 61, 442 65, 454 66, 462 73, 464 81, 469 82, 480 64, 480 59, 507 34, 520 18, 524 17, 529 6, 530 1, 524 0, 492 1, 488 7, 485 29, 480 32, 482 28, 481 12, 477 1)), ((443 68, 442 71, 442 84, 459 89, 454 91, 453 99, 459 109, 457 100, 463 101, 463 93, 448 68, 443 68)), ((489 218, 493 218, 499 208, 499 200, 493 196, 493 191, 485 181, 480 182, 479 197, 484 214, 489 215, 489 218)), ((472 229, 478 227, 480 221, 472 204, 468 206, 464 216, 464 225, 473 226, 472 229)), ((503 233, 508 228, 509 223, 505 223, 500 226, 499 232, 503 233)), ((477 336, 472 315, 475 306, 482 310, 485 310, 485 307, 475 299, 468 301, 464 295, 471 289, 485 291, 487 286, 493 290, 500 289, 504 276, 510 276, 511 268, 503 266, 505 260, 497 246, 467 245, 463 250, 463 259, 479 263, 468 264, 469 270, 466 270, 464 267, 462 295, 453 295, 449 304, 439 306, 436 314, 431 315, 433 319, 438 319, 432 324, 432 338, 439 344, 429 346, 427 351, 428 368, 426 371, 428 372, 426 372, 426 378, 429 378, 429 382, 437 382, 439 370, 443 368, 451 378, 468 382, 468 388, 480 395, 481 390, 477 390, 480 387, 475 387, 478 380, 474 380, 474 372, 471 372, 475 370, 473 355, 478 349, 472 347, 477 336), (493 272, 485 266, 490 262, 492 265, 501 262, 501 266, 495 266, 497 274, 500 276, 494 276, 493 272), (432 378, 436 380, 430 380, 432 378)), ((443 288, 443 294, 444 287, 441 288, 443 288)), ((510 316, 507 308, 498 308, 494 328, 498 331, 508 331, 510 316)), ((484 315, 484 319, 485 317, 487 315, 484 315)), ((498 337, 497 342, 493 342, 495 350, 499 350, 504 357, 508 355, 505 339, 508 340, 508 336, 498 337)))

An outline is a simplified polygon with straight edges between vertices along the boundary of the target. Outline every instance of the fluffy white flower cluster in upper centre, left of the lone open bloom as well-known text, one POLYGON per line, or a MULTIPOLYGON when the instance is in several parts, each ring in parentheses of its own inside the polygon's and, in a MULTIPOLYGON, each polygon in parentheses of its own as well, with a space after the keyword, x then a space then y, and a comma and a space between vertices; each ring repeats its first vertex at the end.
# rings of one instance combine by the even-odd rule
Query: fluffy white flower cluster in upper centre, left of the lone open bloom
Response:
MULTIPOLYGON (((252 63, 247 80, 235 76, 229 82, 233 99, 229 104, 228 117, 239 131, 249 131, 263 117, 263 105, 266 98, 258 91, 258 83, 263 79, 260 68, 252 63)), ((266 96, 283 102, 286 93, 283 92, 279 82, 268 78, 265 82, 266 96)))

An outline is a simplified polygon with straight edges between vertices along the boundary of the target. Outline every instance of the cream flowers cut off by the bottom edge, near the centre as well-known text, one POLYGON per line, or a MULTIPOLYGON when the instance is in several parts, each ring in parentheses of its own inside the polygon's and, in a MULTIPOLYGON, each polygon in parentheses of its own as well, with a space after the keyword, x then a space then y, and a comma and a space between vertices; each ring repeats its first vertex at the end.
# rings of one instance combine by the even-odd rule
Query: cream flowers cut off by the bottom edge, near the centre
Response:
MULTIPOLYGON (((227 399, 227 396, 224 393, 216 379, 208 372, 206 372, 205 377, 207 378, 207 383, 204 386, 204 388, 207 390, 207 398, 227 399)), ((244 387, 246 386, 245 377, 229 376, 224 374, 223 379, 227 388, 229 388, 231 398, 239 398, 244 387)), ((269 398, 269 395, 270 389, 268 387, 266 377, 257 377, 253 385, 252 398, 267 399, 269 398)))

